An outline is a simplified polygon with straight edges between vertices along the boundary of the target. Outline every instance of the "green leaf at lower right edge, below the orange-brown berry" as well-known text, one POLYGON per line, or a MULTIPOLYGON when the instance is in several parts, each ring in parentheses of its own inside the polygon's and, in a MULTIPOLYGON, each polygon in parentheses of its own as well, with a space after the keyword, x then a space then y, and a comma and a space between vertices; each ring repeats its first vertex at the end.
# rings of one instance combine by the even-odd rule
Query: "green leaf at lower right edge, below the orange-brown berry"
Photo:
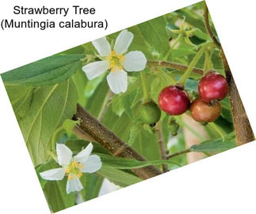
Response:
POLYGON ((224 152, 230 148, 235 148, 235 134, 227 135, 227 139, 204 141, 200 145, 193 145, 190 149, 193 152, 224 152))

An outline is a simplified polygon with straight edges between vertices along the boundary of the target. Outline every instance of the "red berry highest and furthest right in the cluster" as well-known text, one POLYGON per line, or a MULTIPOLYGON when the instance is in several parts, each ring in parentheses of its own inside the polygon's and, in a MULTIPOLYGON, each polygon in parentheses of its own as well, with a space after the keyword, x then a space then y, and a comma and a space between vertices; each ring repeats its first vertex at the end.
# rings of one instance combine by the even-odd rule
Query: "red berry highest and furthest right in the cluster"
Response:
POLYGON ((227 80, 220 73, 212 70, 201 78, 198 84, 198 92, 205 102, 211 102, 213 99, 224 99, 228 93, 227 80))

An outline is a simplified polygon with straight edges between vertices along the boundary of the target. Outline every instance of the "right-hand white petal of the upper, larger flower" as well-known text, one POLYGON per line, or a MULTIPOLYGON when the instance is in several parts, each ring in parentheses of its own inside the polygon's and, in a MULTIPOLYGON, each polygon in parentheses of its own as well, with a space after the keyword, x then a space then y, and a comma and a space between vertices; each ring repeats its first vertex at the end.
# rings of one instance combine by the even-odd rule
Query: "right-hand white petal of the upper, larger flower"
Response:
POLYGON ((124 56, 123 66, 127 71, 139 71, 146 68, 147 58, 141 51, 131 51, 124 56))

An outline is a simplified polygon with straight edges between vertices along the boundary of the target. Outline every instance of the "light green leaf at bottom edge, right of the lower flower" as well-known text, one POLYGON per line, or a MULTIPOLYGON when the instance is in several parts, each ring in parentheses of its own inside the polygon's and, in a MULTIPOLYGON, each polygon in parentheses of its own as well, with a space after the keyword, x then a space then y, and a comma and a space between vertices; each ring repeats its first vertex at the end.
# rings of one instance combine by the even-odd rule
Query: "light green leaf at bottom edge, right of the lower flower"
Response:
POLYGON ((113 167, 102 166, 101 169, 96 173, 98 175, 102 175, 105 178, 108 178, 110 182, 113 182, 114 184, 123 187, 130 186, 132 184, 142 181, 142 179, 136 177, 135 175, 115 169, 113 167))

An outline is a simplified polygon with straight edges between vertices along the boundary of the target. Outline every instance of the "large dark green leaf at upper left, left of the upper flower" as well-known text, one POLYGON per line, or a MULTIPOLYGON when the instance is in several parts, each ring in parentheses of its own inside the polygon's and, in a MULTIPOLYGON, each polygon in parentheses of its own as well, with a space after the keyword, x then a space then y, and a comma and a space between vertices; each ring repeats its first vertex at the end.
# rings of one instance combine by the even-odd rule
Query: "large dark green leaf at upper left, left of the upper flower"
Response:
POLYGON ((66 81, 82 66, 83 54, 55 55, 2 73, 5 84, 47 86, 66 81))

